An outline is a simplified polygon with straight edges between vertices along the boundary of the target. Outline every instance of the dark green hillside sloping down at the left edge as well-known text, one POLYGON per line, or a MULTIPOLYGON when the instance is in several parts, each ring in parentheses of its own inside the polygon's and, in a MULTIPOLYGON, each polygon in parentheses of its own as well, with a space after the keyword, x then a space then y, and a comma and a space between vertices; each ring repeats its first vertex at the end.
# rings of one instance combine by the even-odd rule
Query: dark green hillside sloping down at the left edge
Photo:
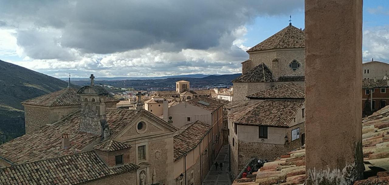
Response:
POLYGON ((0 144, 25 133, 20 102, 67 86, 58 78, 0 60, 0 144))

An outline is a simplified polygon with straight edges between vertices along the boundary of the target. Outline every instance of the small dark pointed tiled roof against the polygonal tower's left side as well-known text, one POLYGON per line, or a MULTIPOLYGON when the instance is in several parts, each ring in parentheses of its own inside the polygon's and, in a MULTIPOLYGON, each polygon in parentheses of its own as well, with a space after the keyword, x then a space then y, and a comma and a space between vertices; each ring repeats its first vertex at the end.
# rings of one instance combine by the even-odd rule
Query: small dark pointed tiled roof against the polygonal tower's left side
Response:
POLYGON ((252 68, 250 71, 235 78, 232 82, 270 82, 273 81, 272 71, 264 64, 252 68))

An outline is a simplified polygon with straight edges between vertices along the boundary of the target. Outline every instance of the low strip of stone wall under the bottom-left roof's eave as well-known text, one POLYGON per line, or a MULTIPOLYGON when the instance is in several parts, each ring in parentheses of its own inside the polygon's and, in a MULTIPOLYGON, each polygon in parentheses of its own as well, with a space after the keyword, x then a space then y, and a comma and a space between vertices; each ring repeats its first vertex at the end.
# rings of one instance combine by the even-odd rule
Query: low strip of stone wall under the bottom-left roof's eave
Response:
POLYGON ((137 182, 137 171, 130 171, 127 173, 122 173, 120 175, 110 176, 108 178, 103 178, 101 180, 96 180, 93 182, 86 183, 88 185, 107 185, 107 184, 115 184, 115 185, 129 185, 129 184, 138 184, 137 182))

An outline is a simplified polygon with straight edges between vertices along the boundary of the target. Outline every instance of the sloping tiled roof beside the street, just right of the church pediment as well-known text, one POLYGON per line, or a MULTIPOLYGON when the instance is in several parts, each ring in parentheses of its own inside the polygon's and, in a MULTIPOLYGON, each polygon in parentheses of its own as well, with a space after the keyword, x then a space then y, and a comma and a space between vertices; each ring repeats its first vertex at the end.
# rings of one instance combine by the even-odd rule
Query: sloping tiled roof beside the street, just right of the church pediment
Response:
POLYGON ((182 126, 173 135, 174 161, 187 152, 195 149, 209 133, 211 126, 201 121, 195 121, 182 126))

